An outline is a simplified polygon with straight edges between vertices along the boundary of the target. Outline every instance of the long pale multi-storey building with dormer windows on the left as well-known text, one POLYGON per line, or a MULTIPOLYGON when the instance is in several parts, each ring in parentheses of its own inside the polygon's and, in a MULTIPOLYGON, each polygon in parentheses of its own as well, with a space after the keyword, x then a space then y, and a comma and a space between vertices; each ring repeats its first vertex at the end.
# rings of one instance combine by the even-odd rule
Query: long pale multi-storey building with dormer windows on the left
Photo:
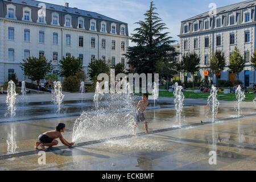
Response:
POLYGON ((0 0, 0 84, 15 73, 29 56, 52 61, 59 72, 62 57, 80 57, 85 72, 95 59, 123 63, 129 46, 127 23, 97 13, 33 0, 0 0))

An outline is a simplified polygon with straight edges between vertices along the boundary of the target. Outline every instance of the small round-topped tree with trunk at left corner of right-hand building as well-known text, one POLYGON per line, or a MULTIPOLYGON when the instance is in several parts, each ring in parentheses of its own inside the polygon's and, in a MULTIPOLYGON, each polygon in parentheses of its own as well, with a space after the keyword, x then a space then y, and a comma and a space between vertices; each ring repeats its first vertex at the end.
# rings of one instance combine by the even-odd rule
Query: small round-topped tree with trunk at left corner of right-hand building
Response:
POLYGON ((191 73, 193 76, 193 87, 195 86, 195 72, 200 69, 200 56, 197 53, 187 53, 183 55, 179 65, 179 69, 183 73, 191 73))

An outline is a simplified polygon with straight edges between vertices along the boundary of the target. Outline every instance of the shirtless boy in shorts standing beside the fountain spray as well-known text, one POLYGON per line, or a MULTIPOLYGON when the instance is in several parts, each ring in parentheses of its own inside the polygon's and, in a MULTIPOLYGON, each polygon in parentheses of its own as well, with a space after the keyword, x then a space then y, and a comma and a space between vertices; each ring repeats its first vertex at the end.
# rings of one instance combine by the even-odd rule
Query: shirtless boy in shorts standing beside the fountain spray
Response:
POLYGON ((148 134, 148 126, 147 126, 147 121, 146 118, 144 116, 144 111, 147 109, 148 106, 148 94, 142 94, 142 100, 139 101, 138 105, 137 105, 137 122, 144 122, 144 127, 146 130, 146 134, 148 134))

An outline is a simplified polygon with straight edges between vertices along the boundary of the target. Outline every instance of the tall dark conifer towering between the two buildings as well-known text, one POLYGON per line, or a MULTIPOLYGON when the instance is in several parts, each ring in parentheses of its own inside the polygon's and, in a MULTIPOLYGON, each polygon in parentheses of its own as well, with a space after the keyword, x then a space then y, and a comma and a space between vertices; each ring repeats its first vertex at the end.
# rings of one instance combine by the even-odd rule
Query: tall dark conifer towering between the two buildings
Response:
POLYGON ((146 11, 144 21, 139 21, 139 27, 135 28, 135 34, 132 34, 131 41, 137 46, 129 47, 125 56, 130 65, 130 71, 136 73, 155 73, 158 61, 169 63, 176 55, 174 40, 166 31, 168 28, 155 12, 156 7, 153 2, 150 3, 150 9, 146 11))

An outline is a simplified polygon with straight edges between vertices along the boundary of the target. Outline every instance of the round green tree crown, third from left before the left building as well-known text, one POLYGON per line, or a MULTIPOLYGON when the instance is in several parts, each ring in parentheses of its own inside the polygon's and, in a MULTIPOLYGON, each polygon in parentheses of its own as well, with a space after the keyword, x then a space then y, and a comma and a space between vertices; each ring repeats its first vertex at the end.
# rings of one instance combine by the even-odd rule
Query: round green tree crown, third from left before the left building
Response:
POLYGON ((101 73, 109 74, 109 65, 104 60, 95 60, 88 65, 88 75, 92 80, 97 80, 97 76, 101 73))

